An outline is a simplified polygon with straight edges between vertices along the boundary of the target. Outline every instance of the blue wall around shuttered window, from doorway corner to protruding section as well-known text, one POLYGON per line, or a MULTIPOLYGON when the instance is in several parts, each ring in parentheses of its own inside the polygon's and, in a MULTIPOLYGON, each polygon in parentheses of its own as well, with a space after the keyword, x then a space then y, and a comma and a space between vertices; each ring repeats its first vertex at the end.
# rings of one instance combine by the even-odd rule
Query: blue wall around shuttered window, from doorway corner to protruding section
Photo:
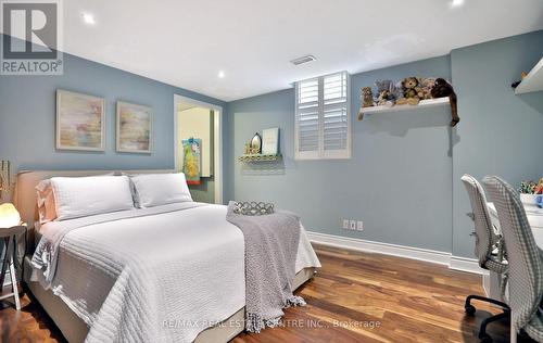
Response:
POLYGON ((356 120, 359 89, 376 79, 451 77, 449 56, 351 77, 352 158, 294 161, 292 89, 228 105, 227 198, 272 201, 298 212, 312 231, 451 251, 452 157, 447 109, 368 115, 356 120), (235 163, 255 131, 280 128, 283 163, 235 163), (267 168, 267 169, 266 169, 267 168), (264 169, 264 170, 262 170, 264 169), (341 219, 364 220, 364 231, 341 219))

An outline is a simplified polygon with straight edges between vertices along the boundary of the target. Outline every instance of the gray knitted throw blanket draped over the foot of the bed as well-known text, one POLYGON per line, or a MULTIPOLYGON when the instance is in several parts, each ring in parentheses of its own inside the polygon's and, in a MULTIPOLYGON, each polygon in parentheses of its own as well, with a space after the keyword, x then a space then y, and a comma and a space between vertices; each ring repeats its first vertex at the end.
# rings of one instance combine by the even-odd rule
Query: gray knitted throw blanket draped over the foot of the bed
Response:
POLYGON ((283 211, 245 216, 236 214, 233 206, 231 201, 226 220, 240 228, 245 241, 245 329, 258 333, 278 326, 283 308, 305 305, 292 294, 300 218, 283 211))

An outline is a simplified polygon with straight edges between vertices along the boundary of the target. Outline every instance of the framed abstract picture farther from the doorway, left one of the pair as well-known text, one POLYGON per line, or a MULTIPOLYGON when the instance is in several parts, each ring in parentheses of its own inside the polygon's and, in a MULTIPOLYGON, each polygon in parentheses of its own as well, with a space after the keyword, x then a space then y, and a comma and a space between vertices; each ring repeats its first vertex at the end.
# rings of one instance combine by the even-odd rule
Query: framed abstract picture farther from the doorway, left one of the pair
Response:
POLYGON ((56 150, 105 151, 104 98, 56 90, 56 150))

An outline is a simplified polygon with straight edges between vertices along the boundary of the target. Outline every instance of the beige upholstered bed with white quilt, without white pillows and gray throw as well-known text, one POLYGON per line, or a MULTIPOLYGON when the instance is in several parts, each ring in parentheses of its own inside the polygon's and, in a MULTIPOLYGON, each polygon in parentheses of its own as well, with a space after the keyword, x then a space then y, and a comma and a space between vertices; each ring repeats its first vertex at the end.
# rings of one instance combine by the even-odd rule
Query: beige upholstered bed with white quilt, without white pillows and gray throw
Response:
MULTIPOLYGON (((40 180, 105 173, 111 172, 20 173, 14 202, 29 224, 28 241, 40 239, 30 225, 36 220, 35 187, 40 180)), ((162 341, 176 338, 184 342, 227 342, 243 331, 244 269, 243 234, 225 220, 225 214, 226 206, 222 205, 169 204, 147 212, 134 209, 66 220, 64 227, 74 221, 76 225, 61 241, 50 287, 43 288, 43 280, 36 278, 31 264, 35 244, 29 244, 30 254, 24 258, 23 277, 33 296, 70 342, 83 342, 88 335, 94 341, 109 341, 114 338, 108 335, 110 329, 122 330, 118 328, 125 322, 131 322, 132 327, 126 330, 134 331, 142 322, 139 316, 154 318, 157 313, 171 316, 157 319, 161 328, 156 323, 142 329, 144 332, 134 335, 134 341, 144 340, 149 338, 146 332, 151 332, 162 341), (177 227, 184 228, 182 233, 177 227), (130 253, 134 252, 130 246, 138 246, 141 253, 130 253), (111 251, 115 250, 113 254, 111 251), (155 261, 155 256, 162 259, 155 261), (115 261, 125 257, 127 262, 115 261), (180 258, 182 264, 172 264, 172 258, 180 258), (128 262, 146 270, 144 278, 136 285, 134 278, 122 282, 121 276, 126 274, 122 267, 128 262), (117 269, 119 275, 112 276, 117 269), (147 292, 156 284, 159 291, 147 292), (134 306, 124 308, 125 304, 136 304, 138 310, 132 312, 134 306), (112 317, 115 312, 123 316, 112 317)), ((320 266, 303 227, 300 230, 294 289, 311 279, 320 266)))

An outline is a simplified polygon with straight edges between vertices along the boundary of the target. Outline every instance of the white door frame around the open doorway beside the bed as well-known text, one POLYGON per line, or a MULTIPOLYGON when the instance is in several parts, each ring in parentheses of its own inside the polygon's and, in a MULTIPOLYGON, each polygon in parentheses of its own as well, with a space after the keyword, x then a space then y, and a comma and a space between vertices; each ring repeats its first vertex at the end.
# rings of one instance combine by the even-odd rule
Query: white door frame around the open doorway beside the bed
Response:
POLYGON ((179 103, 190 103, 194 106, 202 106, 213 110, 213 174, 215 183, 215 204, 223 204, 223 106, 188 98, 185 96, 174 94, 174 161, 175 169, 180 170, 179 147, 177 144, 177 107, 179 103))

